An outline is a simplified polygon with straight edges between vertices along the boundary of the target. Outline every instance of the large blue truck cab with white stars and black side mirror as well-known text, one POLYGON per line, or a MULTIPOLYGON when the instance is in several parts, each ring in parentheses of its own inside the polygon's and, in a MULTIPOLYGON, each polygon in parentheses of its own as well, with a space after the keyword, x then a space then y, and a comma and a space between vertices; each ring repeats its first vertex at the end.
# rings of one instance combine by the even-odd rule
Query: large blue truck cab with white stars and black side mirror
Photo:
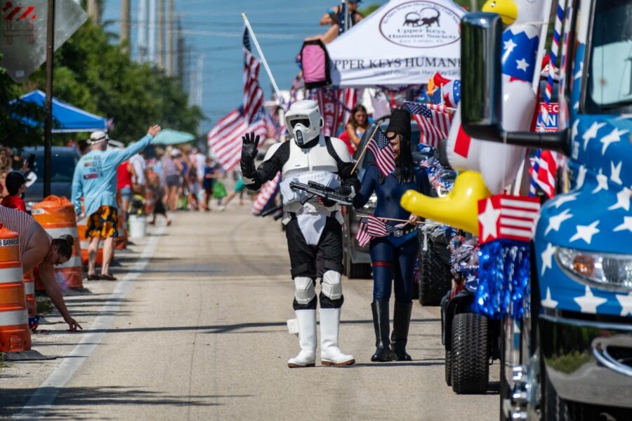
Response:
POLYGON ((571 173, 541 206, 524 294, 505 303, 500 416, 630 420, 632 1, 559 3, 556 133, 508 127, 501 63, 515 46, 501 17, 471 13, 461 24, 464 131, 485 144, 550 149, 571 173))

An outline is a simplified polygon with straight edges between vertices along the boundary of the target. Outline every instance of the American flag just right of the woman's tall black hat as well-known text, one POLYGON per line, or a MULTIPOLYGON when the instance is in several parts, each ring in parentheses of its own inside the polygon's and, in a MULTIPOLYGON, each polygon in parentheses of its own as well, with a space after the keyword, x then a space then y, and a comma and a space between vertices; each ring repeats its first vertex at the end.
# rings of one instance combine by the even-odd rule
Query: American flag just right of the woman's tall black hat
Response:
POLYGON ((419 142, 438 147, 448 137, 452 126, 452 113, 445 105, 404 102, 419 126, 419 142))

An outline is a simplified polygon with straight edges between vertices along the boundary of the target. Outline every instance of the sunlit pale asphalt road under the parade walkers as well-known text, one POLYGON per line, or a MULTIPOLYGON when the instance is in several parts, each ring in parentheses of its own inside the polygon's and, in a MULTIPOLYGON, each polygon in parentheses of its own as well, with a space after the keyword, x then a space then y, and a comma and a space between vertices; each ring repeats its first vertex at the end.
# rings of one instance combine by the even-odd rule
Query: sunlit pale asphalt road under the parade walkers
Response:
MULTIPOLYGON (((345 279, 343 284, 341 349, 354 354, 357 364, 287 368, 298 340, 286 328, 287 319, 294 318, 294 285, 278 222, 253 218, 235 204, 223 213, 178 213, 173 225, 152 241, 154 248, 145 247, 146 266, 126 265, 128 273, 136 271, 136 279, 124 282, 115 305, 96 314, 111 326, 93 323, 82 333, 88 336, 81 349, 89 357, 75 371, 67 363, 79 361, 72 354, 66 365, 39 366, 47 374, 66 375, 63 387, 53 382, 53 387, 38 389, 46 376, 14 373, 25 385, 22 401, 5 395, 4 415, 19 413, 39 390, 37 396, 53 396, 51 405, 26 408, 24 417, 496 419, 494 383, 488 394, 470 396, 456 395, 445 385, 438 307, 414 305, 408 347, 414 361, 371 363, 369 280, 345 279)), ((37 365, 27 367, 38 370, 37 365)), ((497 367, 491 370, 492 380, 497 380, 497 367)), ((0 387, 2 394, 11 390, 11 380, 0 379, 0 387)))

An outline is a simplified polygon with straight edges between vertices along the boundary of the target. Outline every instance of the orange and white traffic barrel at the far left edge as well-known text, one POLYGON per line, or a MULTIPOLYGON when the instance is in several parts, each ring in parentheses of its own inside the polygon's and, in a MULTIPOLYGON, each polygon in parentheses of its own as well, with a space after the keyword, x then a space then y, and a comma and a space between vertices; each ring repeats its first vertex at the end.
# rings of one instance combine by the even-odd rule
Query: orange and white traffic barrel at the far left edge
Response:
POLYGON ((31 349, 20 239, 0 224, 0 352, 31 349))

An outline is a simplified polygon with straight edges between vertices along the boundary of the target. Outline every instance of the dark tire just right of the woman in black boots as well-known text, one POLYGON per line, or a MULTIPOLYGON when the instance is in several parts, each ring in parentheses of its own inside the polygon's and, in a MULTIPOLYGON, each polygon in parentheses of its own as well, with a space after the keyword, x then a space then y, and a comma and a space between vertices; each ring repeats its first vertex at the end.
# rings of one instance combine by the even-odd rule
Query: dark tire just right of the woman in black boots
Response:
POLYGON ((443 296, 452 286, 450 267, 428 246, 428 250, 419 253, 419 303, 421 305, 439 305, 443 296))

